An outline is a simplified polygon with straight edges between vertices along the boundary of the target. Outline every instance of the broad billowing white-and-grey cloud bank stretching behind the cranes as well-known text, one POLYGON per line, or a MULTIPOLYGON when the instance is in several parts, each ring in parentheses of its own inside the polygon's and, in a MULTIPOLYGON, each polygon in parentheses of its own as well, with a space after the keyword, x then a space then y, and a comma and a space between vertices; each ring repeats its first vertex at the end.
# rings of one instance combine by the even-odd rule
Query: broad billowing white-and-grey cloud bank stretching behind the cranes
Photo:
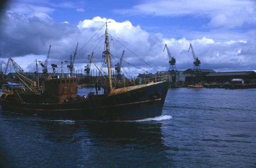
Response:
MULTIPOLYGON (((106 18, 94 17, 80 21, 77 25, 66 22, 63 24, 56 23, 47 14, 35 12, 17 14, 8 11, 1 19, 1 60, 13 57, 25 71, 32 71, 34 68, 32 61, 36 57, 38 60, 44 60, 49 45, 52 45, 50 63, 60 67, 60 61, 68 60, 70 54, 73 55, 76 43, 79 42, 75 68, 81 70, 88 63, 87 55, 92 51, 94 51, 93 57, 97 65, 100 65, 99 60, 101 60, 102 51, 104 51, 104 36, 102 35, 105 32, 103 26, 105 22, 106 18), (92 38, 99 29, 99 33, 92 38), (91 41, 87 43, 90 39, 91 41), (84 44, 86 45, 84 46, 84 44)), ((251 36, 240 36, 240 38, 231 38, 226 41, 218 41, 207 36, 190 40, 185 37, 175 39, 165 38, 161 33, 149 33, 139 25, 132 25, 128 20, 117 22, 114 19, 107 19, 107 22, 108 33, 114 37, 114 39, 110 39, 111 53, 115 56, 112 57, 113 65, 118 61, 116 57, 120 57, 122 51, 125 50, 123 67, 126 72, 130 70, 132 76, 143 72, 132 65, 148 72, 155 72, 140 58, 158 71, 167 71, 169 67, 168 56, 166 52, 163 52, 165 43, 167 43, 172 56, 176 58, 177 68, 180 70, 193 67, 192 54, 188 53, 190 43, 194 47, 196 56, 202 62, 202 68, 214 70, 225 68, 230 70, 255 69, 253 46, 256 40, 251 36), (126 62, 130 64, 126 64, 126 62)))

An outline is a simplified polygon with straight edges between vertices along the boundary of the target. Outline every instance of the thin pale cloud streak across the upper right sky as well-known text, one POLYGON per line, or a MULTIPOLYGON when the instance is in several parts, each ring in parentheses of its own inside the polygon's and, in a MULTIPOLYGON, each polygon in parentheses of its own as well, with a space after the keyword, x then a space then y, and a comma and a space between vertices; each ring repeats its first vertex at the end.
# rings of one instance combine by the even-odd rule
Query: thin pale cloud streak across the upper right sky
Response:
POLYGON ((144 1, 129 9, 116 9, 116 13, 138 16, 203 17, 210 27, 240 27, 256 23, 256 1, 251 0, 159 0, 144 1))

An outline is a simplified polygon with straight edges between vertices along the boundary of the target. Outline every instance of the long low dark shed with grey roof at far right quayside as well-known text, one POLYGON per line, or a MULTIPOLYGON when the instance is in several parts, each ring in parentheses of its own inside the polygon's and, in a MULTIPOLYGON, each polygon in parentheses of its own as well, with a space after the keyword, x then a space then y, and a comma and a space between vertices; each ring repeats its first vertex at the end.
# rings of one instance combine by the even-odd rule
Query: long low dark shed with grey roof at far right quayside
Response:
POLYGON ((232 79, 243 79, 244 83, 256 83, 256 73, 254 71, 216 72, 205 76, 207 82, 230 82, 232 79))

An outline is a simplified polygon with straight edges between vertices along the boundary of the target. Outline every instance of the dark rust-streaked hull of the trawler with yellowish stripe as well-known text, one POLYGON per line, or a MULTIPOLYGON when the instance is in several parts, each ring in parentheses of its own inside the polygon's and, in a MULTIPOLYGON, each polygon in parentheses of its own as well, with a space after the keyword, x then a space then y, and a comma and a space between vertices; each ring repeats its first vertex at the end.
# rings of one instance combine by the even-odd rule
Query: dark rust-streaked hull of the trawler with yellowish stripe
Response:
POLYGON ((91 100, 62 104, 19 103, 1 100, 4 111, 70 119, 136 120, 160 116, 170 82, 91 100))

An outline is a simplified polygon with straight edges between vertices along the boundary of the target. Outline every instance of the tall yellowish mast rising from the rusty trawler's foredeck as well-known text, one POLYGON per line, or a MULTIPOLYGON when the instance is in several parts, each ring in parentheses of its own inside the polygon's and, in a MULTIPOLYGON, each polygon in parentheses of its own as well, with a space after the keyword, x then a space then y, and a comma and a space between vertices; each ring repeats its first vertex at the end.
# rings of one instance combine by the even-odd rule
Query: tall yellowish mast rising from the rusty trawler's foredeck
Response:
POLYGON ((103 53, 107 56, 107 65, 108 65, 108 83, 109 83, 109 89, 112 90, 112 75, 111 75, 111 64, 110 64, 110 52, 109 52, 109 41, 108 41, 108 25, 107 25, 107 19, 106 19, 106 30, 105 30, 105 44, 106 44, 106 51, 103 53))

